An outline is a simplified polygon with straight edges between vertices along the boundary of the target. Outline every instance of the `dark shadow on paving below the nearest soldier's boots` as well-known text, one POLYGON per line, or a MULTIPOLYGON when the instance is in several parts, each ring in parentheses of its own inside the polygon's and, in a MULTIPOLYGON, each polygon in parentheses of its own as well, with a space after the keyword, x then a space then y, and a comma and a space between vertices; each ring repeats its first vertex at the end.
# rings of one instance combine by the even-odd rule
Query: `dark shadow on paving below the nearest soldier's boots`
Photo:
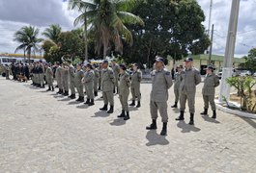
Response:
POLYGON ((160 136, 156 134, 156 130, 148 131, 146 138, 149 140, 146 146, 152 145, 168 145, 169 141, 165 138, 166 136, 160 136))

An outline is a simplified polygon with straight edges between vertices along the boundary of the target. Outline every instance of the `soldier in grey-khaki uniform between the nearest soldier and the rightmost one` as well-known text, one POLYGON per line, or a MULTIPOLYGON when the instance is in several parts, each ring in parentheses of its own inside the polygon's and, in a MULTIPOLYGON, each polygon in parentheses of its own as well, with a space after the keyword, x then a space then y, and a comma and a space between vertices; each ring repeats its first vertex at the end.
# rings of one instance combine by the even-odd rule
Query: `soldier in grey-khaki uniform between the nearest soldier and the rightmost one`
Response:
POLYGON ((201 83, 201 76, 197 69, 193 67, 193 59, 185 59, 185 69, 181 72, 181 86, 180 86, 180 116, 176 120, 184 120, 185 102, 188 102, 190 112, 189 125, 194 124, 195 112, 195 91, 196 86, 201 83))

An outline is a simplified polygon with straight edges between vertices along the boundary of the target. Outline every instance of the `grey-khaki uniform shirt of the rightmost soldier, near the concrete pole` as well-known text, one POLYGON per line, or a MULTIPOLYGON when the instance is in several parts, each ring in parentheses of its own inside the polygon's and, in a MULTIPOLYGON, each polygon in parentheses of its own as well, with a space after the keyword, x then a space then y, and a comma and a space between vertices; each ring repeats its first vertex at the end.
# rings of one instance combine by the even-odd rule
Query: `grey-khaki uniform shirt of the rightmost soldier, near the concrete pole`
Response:
POLYGON ((218 76, 215 74, 207 74, 202 89, 203 95, 215 95, 216 86, 219 86, 218 76))

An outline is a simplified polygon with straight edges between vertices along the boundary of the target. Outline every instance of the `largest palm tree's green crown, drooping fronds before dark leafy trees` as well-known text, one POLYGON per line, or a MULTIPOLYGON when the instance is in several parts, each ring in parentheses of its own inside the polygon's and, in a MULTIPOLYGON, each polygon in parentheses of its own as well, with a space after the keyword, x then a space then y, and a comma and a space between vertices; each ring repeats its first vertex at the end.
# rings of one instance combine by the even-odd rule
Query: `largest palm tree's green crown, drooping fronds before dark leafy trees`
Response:
POLYGON ((114 44, 117 52, 123 52, 122 38, 132 45, 132 35, 126 24, 141 24, 143 21, 128 9, 134 5, 135 0, 70 0, 70 9, 77 8, 81 14, 74 20, 74 24, 82 22, 87 32, 93 32, 96 38, 96 50, 100 54, 103 47, 103 57, 114 44))

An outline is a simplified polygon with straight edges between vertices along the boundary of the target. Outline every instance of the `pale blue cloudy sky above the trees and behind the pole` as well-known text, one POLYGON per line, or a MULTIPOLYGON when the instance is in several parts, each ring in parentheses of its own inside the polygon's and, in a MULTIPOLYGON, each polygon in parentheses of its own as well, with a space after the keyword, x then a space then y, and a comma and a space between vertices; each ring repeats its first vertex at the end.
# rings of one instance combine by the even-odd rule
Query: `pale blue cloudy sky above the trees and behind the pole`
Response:
MULTIPOLYGON (((210 0, 197 0, 205 12, 204 25, 208 29, 210 0)), ((214 24, 213 54, 224 55, 230 0, 213 0, 212 24, 214 24)), ((236 57, 246 55, 256 46, 256 0, 242 0, 240 8, 236 57)), ((0 52, 14 53, 17 43, 14 32, 22 26, 33 25, 41 32, 50 24, 58 23, 63 30, 73 28, 77 12, 68 10, 67 0, 0 0, 0 52)))

